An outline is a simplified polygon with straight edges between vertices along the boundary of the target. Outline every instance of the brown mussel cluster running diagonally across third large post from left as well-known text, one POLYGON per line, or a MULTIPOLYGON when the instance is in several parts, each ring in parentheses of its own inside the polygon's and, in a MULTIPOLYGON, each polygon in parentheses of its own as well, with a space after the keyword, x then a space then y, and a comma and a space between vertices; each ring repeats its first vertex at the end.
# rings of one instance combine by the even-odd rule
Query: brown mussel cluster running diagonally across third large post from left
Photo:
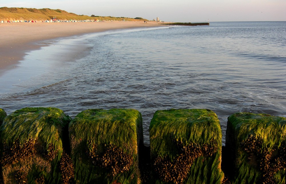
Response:
POLYGON ((204 144, 200 146, 196 143, 184 145, 182 141, 175 141, 178 154, 171 161, 168 156, 157 157, 153 160, 153 170, 158 178, 163 182, 183 183, 190 172, 194 160, 201 155, 211 156, 217 151, 216 146, 204 144))

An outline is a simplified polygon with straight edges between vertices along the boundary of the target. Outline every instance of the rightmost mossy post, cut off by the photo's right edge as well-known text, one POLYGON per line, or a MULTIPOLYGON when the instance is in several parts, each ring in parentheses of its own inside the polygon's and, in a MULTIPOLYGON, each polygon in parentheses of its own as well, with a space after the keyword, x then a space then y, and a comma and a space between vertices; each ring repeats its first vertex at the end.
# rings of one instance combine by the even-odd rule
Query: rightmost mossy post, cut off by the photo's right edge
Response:
POLYGON ((247 112, 228 117, 234 183, 285 183, 286 118, 247 112))

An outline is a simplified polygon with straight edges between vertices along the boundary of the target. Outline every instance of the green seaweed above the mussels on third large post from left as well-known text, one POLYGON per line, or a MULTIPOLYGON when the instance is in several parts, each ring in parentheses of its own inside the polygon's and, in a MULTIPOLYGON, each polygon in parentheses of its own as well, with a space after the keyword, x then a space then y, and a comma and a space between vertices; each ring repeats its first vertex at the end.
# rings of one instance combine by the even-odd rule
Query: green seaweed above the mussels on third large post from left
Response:
POLYGON ((208 109, 156 111, 150 122, 149 131, 152 154, 159 156, 177 153, 174 149, 176 146, 170 144, 174 140, 221 147, 219 120, 217 115, 208 109))

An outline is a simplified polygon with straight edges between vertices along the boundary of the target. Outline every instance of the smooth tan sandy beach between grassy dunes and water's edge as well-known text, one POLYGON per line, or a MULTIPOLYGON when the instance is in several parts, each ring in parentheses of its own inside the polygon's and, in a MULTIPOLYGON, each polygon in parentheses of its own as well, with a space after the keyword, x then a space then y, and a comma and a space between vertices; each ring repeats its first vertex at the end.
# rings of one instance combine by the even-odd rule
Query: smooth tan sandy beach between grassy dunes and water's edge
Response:
POLYGON ((56 23, 1 23, 0 70, 13 68, 25 52, 39 48, 44 40, 107 30, 165 26, 157 22, 56 22, 56 23))

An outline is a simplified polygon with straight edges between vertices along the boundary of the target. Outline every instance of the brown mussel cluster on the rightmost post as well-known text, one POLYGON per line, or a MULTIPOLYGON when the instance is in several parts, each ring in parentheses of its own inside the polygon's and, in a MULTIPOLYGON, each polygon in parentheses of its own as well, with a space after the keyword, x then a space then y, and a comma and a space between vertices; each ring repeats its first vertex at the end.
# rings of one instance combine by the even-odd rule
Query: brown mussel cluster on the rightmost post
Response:
POLYGON ((285 169, 285 147, 278 148, 278 146, 275 146, 270 150, 267 147, 263 147, 262 143, 261 138, 249 135, 246 140, 241 142, 240 147, 247 153, 248 163, 261 171, 260 183, 274 184, 276 183, 274 174, 281 169, 285 169))

